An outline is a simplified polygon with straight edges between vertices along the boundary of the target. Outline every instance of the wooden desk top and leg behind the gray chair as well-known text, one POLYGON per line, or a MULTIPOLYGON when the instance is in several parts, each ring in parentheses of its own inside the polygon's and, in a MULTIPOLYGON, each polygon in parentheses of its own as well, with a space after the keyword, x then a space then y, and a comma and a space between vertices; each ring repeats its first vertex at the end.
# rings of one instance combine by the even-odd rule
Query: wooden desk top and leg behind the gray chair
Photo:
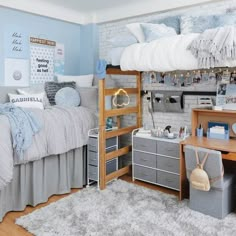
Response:
POLYGON ((180 200, 188 196, 188 181, 185 168, 184 146, 192 145, 196 147, 208 148, 218 150, 222 152, 222 158, 224 160, 236 161, 236 139, 221 140, 221 139, 209 139, 206 137, 190 136, 186 140, 180 143, 180 200))

